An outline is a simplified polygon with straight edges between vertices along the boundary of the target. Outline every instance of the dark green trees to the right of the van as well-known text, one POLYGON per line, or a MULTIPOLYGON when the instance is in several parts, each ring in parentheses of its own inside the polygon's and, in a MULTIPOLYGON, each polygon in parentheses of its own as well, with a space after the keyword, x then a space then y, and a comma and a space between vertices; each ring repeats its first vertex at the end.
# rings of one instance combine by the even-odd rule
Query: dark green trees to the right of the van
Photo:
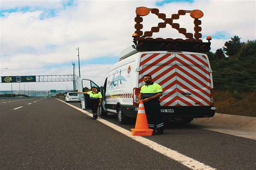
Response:
POLYGON ((234 36, 223 48, 206 54, 215 89, 233 93, 256 90, 256 40, 240 42, 234 36))

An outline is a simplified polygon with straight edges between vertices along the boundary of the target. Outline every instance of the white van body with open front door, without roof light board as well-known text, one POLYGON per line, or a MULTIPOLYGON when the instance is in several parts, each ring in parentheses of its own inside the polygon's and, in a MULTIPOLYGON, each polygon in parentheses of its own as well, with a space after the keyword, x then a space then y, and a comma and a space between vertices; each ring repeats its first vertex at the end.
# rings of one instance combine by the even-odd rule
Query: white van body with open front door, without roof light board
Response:
MULTIPOLYGON (((99 115, 117 114, 123 124, 128 117, 137 116, 145 74, 163 88, 160 105, 164 119, 189 123, 193 118, 214 116, 212 70, 207 55, 197 52, 138 51, 133 45, 121 52, 102 89, 89 79, 79 78, 79 91, 98 87, 103 96, 99 115)), ((79 99, 86 109, 89 98, 79 94, 79 99)))

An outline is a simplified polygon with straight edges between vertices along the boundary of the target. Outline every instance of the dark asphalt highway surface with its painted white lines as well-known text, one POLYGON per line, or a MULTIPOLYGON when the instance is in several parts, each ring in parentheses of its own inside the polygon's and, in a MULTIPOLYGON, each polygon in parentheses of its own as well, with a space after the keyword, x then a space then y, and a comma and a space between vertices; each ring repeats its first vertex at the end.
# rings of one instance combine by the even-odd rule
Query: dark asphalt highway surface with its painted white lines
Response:
POLYGON ((91 117, 64 99, 0 99, 0 170, 256 170, 253 139, 167 122, 132 136, 134 121, 91 117))

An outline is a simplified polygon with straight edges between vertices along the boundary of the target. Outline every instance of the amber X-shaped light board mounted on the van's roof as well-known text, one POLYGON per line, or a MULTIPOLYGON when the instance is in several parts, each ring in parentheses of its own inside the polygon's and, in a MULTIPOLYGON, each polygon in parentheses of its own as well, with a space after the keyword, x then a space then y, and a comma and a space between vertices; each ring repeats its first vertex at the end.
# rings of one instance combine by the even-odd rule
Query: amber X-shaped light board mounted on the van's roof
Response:
POLYGON ((134 21, 136 24, 134 28, 134 43, 136 45, 136 50, 138 51, 191 51, 191 52, 208 52, 210 48, 210 36, 207 37, 208 42, 203 42, 200 38, 202 34, 200 31, 202 28, 201 20, 199 18, 203 17, 204 13, 198 9, 196 10, 179 10, 177 14, 172 14, 170 18, 166 17, 166 14, 160 13, 157 8, 146 8, 139 7, 136 9, 136 17, 134 21), (162 23, 158 23, 157 26, 151 27, 150 31, 142 31, 143 29, 143 17, 148 14, 155 14, 159 19, 162 19, 162 23), (180 28, 179 23, 175 23, 175 20, 179 20, 180 16, 186 15, 194 20, 194 33, 188 33, 186 28, 180 28), (170 25, 175 31, 178 31, 185 39, 178 38, 152 38, 154 33, 160 31, 161 28, 166 28, 166 25, 170 25))

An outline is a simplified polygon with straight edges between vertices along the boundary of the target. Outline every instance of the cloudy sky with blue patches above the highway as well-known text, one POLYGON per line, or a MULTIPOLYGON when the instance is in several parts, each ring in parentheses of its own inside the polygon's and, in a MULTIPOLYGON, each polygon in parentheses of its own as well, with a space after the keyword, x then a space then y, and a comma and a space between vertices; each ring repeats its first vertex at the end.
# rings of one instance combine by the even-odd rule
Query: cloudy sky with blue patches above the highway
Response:
MULTIPOLYGON (((72 62, 79 75, 79 47, 81 77, 103 85, 120 51, 133 43, 140 6, 158 8, 169 18, 180 9, 203 11, 202 40, 212 36, 212 52, 235 35, 241 42, 256 39, 255 0, 0 0, 0 76, 71 75, 72 62)), ((163 20, 148 14, 142 31, 158 22, 163 20)), ((194 32, 189 14, 177 23, 194 32)), ((153 37, 184 39, 167 27, 153 37)), ((12 89, 69 90, 72 83, 12 83, 12 89)), ((11 83, 0 83, 0 90, 11 90, 11 83)))

